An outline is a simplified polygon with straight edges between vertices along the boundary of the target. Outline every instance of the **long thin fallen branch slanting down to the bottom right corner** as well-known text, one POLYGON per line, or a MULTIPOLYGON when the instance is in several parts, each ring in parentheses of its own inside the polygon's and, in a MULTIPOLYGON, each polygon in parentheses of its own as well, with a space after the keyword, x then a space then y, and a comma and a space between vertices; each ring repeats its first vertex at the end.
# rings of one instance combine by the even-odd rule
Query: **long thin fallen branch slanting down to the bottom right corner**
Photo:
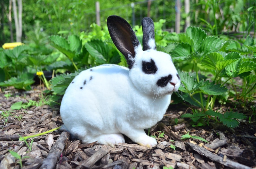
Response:
POLYGON ((234 169, 252 169, 251 167, 239 164, 239 163, 237 163, 235 161, 232 161, 230 159, 224 159, 224 158, 222 158, 222 157, 220 157, 216 154, 213 154, 212 152, 206 150, 203 147, 199 147, 196 144, 189 143, 189 142, 186 142, 185 144, 187 144, 189 147, 191 147, 198 154, 200 154, 202 156, 205 156, 207 158, 210 158, 212 161, 220 163, 220 164, 225 165, 227 167, 234 168, 234 169))

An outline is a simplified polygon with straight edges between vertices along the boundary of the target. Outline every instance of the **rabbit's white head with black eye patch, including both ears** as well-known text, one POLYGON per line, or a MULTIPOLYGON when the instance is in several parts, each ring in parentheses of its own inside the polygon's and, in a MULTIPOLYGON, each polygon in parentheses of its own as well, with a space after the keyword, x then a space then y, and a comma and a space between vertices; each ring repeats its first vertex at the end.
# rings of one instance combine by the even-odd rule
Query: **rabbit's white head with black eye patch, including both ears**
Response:
POLYGON ((156 50, 154 23, 143 18, 143 50, 134 31, 119 16, 107 19, 108 31, 116 48, 125 56, 133 85, 148 95, 162 96, 176 92, 180 77, 169 54, 156 50))

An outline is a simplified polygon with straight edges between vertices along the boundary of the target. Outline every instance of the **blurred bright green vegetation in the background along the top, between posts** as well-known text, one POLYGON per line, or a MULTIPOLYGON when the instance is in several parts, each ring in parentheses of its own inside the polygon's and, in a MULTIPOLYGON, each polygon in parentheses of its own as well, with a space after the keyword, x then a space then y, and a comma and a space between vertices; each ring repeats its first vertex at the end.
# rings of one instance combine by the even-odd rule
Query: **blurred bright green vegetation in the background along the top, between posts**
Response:
MULTIPOLYGON (((22 2, 22 42, 45 43, 47 36, 79 34, 92 30, 96 23, 96 0, 1 0, 0 45, 16 41, 14 4, 22 2)), ((100 25, 106 25, 110 15, 119 15, 131 25, 140 25, 143 17, 154 21, 165 19, 163 29, 175 30, 175 16, 180 12, 180 32, 184 32, 186 19, 191 26, 199 26, 208 34, 246 33, 255 35, 255 0, 98 0, 100 25), (176 5, 180 2, 180 8, 176 5), (132 7, 132 4, 134 7, 132 7)))

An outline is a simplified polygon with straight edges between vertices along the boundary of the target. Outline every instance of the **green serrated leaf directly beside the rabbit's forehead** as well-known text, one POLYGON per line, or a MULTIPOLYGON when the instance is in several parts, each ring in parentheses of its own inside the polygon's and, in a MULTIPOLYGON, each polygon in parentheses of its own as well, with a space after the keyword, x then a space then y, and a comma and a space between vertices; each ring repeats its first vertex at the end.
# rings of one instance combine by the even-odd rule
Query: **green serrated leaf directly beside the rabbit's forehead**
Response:
POLYGON ((179 43, 170 54, 174 61, 188 60, 191 55, 191 46, 188 43, 179 43))

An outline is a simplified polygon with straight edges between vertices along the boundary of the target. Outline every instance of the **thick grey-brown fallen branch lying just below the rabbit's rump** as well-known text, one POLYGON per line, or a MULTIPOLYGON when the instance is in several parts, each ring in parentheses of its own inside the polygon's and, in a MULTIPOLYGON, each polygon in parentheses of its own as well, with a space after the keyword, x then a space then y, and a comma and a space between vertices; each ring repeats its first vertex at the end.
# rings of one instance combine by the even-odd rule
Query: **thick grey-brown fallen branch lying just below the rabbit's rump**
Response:
POLYGON ((53 144, 48 153, 47 158, 43 160, 40 169, 53 169, 64 150, 67 141, 69 140, 69 132, 63 131, 58 137, 57 141, 53 144))

